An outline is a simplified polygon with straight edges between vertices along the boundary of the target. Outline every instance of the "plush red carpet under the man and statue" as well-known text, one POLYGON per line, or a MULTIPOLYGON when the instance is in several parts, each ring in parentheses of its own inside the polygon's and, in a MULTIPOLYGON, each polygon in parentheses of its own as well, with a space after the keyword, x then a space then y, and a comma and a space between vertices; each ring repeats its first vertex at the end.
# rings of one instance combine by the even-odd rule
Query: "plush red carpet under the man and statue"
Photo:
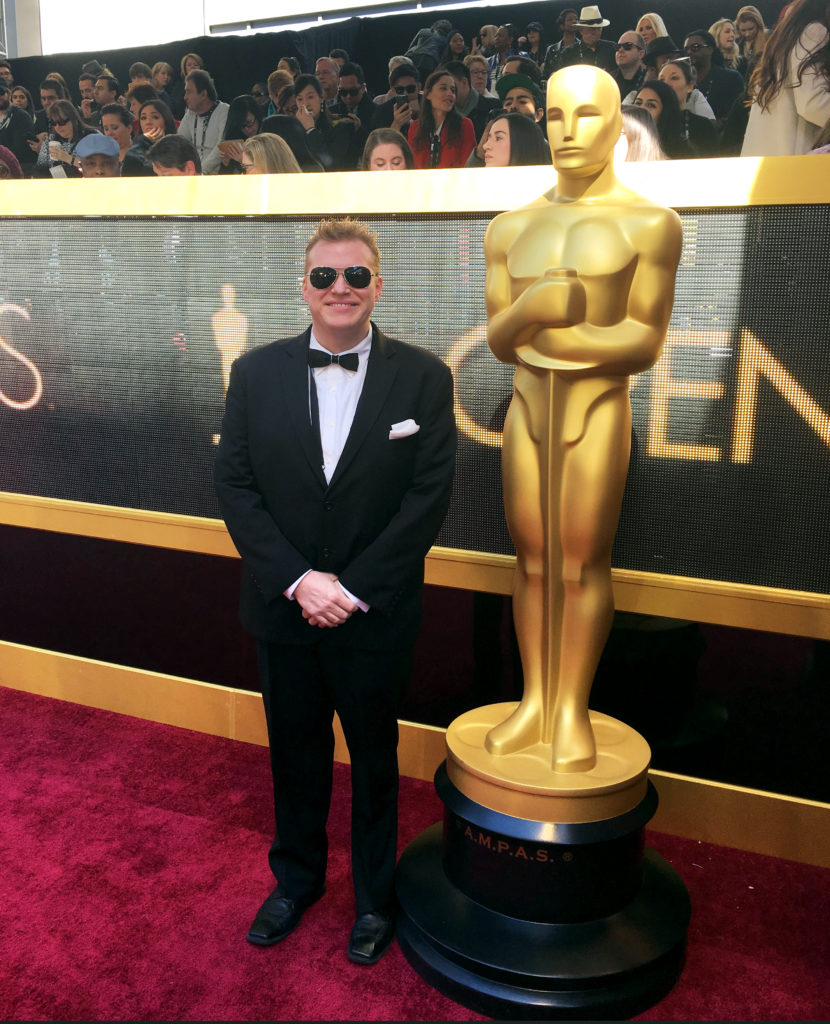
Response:
MULTIPOLYGON (((393 945, 350 964, 348 768, 329 891, 279 946, 245 941, 271 889, 267 752, 0 688, 0 1017, 481 1020, 393 945)), ((441 815, 404 779, 401 848, 441 815)), ((649 835, 692 898, 686 971, 643 1020, 817 1020, 830 870, 649 835)))

